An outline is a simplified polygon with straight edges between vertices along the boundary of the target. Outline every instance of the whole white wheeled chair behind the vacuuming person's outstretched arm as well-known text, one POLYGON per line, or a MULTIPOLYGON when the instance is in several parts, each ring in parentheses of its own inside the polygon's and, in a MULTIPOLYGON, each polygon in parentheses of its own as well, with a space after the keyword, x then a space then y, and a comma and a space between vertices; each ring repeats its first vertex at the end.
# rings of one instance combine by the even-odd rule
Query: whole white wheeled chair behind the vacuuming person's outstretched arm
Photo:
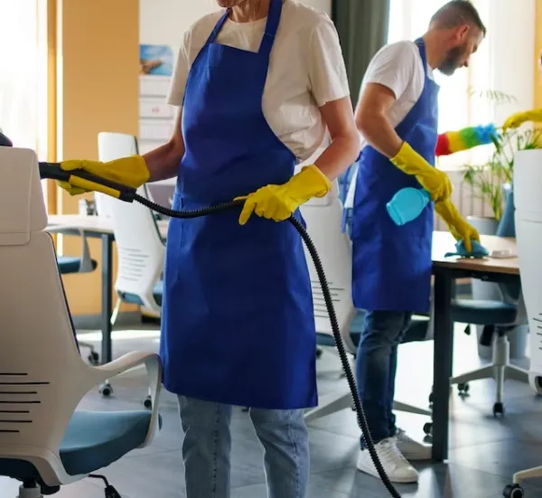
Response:
MULTIPOLYGON (((98 134, 100 161, 111 161, 133 154, 137 154, 135 136, 112 132, 98 134)), ((145 185, 140 187, 137 193, 149 199, 145 185)), ((111 315, 111 324, 117 321, 123 302, 142 305, 160 313, 164 294, 162 273, 165 247, 153 211, 139 202, 122 202, 111 197, 105 201, 102 206, 105 206, 107 217, 113 226, 118 255, 115 282, 117 303, 111 315)), ((108 382, 101 390, 102 393, 112 392, 108 382)), ((144 405, 151 408, 150 395, 145 398, 144 405)))

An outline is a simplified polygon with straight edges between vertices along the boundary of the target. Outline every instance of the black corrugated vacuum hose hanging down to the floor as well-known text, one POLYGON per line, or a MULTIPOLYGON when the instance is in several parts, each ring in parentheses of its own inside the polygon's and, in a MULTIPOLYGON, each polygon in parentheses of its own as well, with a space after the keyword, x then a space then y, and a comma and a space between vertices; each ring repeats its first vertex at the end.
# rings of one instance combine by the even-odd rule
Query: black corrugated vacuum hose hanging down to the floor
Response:
MULTIPOLYGON (((140 202, 147 208, 153 211, 159 212, 160 214, 164 214, 165 216, 169 216, 170 218, 182 218, 182 219, 199 218, 201 216, 207 216, 208 214, 212 214, 215 212, 238 208, 244 204, 244 201, 232 201, 232 202, 223 202, 221 204, 215 204, 213 206, 210 206, 207 208, 201 208, 197 210, 175 211, 168 208, 164 208, 163 206, 156 204, 152 201, 149 201, 148 199, 145 199, 145 197, 142 197, 141 195, 138 195, 138 194, 135 194, 134 200, 136 202, 140 202)), ((382 482, 388 489, 389 494, 393 496, 394 498, 401 498, 401 495, 397 492, 397 489, 389 480, 389 477, 386 474, 384 467, 380 463, 380 460, 378 459, 378 455, 377 455, 377 450, 375 449, 375 445, 373 443, 372 437, 370 436, 369 425, 367 424, 367 418, 365 418, 365 412, 363 411, 363 407, 361 406, 360 395, 358 394, 358 389, 356 387, 354 374, 352 373, 352 370, 350 368, 350 362, 348 361, 346 351, 344 350, 344 343, 342 343, 341 331, 339 329, 339 323, 337 322, 337 316, 335 315, 335 308, 332 302, 332 294, 330 292, 330 288, 328 286, 327 279, 323 271, 322 261, 320 260, 320 257, 318 256, 318 252, 316 251, 316 248, 314 247, 313 240, 311 240, 311 238, 309 237, 309 234, 307 233, 307 230, 304 229, 304 226, 300 223, 300 221, 295 219, 294 216, 291 216, 290 218, 288 218, 288 221, 290 221, 290 223, 294 225, 294 229, 298 231, 299 235, 301 235, 301 238, 303 239, 304 244, 306 245, 307 249, 309 250, 309 253, 311 254, 311 258, 313 258, 314 267, 316 268, 316 273, 318 274, 318 279, 320 280, 320 285, 322 287, 322 293, 323 293, 323 298, 325 300, 325 305, 327 307, 328 315, 330 315, 330 321, 332 323, 332 331, 333 331, 333 337, 335 339, 335 345, 337 346, 337 351, 339 352, 339 356, 341 358, 342 368, 346 372, 346 379, 348 381, 348 385, 350 387, 350 393, 352 395, 352 398, 354 399, 354 405, 356 407, 356 415, 358 417, 358 423, 360 425, 361 432, 363 433, 365 444, 367 445, 367 448, 369 449, 370 457, 372 458, 372 461, 375 467, 377 468, 380 479, 382 479, 382 482)))

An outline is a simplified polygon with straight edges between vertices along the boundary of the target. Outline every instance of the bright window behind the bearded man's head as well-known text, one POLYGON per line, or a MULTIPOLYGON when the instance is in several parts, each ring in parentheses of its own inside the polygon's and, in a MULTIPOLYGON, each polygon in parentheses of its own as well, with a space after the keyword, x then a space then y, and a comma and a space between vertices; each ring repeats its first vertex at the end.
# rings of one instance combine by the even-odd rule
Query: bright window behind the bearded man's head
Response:
MULTIPOLYGON (((425 33, 431 16, 448 0, 390 0, 388 42, 415 40, 425 33)), ((457 70, 452 77, 435 71, 439 92, 439 132, 493 122, 494 106, 485 97, 491 89, 491 0, 475 0, 488 35, 472 55, 468 68, 457 70)), ((455 169, 463 164, 482 163, 491 154, 491 146, 481 146, 441 157, 438 165, 455 169)))

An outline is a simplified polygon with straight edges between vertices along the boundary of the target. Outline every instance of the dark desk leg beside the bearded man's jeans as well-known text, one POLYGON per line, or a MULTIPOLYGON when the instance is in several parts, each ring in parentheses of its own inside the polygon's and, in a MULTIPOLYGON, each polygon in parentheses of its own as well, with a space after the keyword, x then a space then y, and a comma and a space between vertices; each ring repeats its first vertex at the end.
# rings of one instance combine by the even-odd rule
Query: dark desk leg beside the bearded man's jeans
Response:
POLYGON ((453 362, 453 323, 450 314, 453 282, 445 269, 435 271, 435 345, 433 360, 433 459, 448 458, 450 379, 453 362))

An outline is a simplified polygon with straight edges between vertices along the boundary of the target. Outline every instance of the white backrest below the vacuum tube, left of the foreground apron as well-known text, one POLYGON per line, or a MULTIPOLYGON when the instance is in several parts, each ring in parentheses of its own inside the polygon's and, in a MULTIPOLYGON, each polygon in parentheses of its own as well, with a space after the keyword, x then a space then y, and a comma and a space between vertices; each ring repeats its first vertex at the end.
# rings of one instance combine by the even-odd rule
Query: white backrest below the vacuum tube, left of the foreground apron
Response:
MULTIPOLYGON (((148 199, 145 185, 137 193, 148 199)), ((139 296, 145 306, 160 311, 153 287, 164 269, 165 248, 153 212, 139 202, 117 199, 108 209, 117 243, 117 293, 139 296)))

